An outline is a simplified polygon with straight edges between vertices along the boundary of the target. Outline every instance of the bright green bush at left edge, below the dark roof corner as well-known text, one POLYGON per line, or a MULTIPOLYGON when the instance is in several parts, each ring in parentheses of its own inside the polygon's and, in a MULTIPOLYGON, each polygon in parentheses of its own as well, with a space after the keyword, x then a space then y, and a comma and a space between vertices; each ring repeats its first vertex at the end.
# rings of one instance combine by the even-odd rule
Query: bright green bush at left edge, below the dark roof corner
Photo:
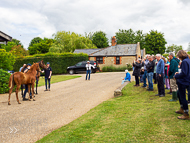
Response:
POLYGON ((14 63, 15 56, 13 56, 10 52, 6 52, 5 49, 0 49, 0 69, 13 70, 14 63))

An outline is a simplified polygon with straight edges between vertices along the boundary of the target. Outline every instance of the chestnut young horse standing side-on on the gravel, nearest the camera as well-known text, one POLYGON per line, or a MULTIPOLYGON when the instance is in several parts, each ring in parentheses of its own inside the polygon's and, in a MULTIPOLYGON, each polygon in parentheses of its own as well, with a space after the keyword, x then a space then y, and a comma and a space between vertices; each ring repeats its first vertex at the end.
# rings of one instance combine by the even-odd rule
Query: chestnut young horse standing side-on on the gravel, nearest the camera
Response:
MULTIPOLYGON (((21 84, 27 84, 28 85, 28 93, 30 93, 30 85, 32 85, 32 99, 33 99, 33 101, 35 101, 35 99, 34 99, 34 84, 35 84, 37 72, 41 71, 39 64, 40 63, 34 63, 27 73, 15 72, 10 76, 10 78, 9 78, 9 88, 10 89, 9 89, 8 105, 11 105, 10 97, 11 97, 11 93, 12 93, 12 90, 13 90, 15 85, 17 85, 17 88, 16 88, 17 102, 18 102, 18 104, 21 104, 19 99, 18 99, 18 91, 20 89, 21 84)), ((29 94, 29 101, 30 101, 30 94, 29 94)))

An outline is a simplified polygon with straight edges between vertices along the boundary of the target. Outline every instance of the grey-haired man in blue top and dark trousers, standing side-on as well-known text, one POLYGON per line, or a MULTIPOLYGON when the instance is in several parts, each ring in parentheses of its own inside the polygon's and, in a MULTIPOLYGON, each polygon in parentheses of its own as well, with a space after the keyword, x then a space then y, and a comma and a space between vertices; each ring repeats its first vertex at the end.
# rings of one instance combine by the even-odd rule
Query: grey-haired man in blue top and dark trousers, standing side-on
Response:
POLYGON ((164 97, 165 96, 165 89, 164 89, 164 60, 161 59, 160 54, 156 54, 157 58, 157 68, 156 68, 156 75, 158 81, 158 94, 156 96, 164 97))

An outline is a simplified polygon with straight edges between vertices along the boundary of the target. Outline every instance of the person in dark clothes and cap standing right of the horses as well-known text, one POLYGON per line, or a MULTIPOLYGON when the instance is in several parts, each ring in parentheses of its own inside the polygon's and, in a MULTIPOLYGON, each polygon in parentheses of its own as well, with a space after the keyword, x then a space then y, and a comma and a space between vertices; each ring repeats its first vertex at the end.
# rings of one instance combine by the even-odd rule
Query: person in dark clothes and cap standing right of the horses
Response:
POLYGON ((50 79, 51 79, 51 75, 52 75, 52 68, 50 67, 50 63, 47 62, 47 69, 44 69, 42 71, 42 73, 45 72, 45 86, 46 89, 44 91, 50 91, 50 79), (47 88, 47 82, 48 82, 48 88, 47 88))

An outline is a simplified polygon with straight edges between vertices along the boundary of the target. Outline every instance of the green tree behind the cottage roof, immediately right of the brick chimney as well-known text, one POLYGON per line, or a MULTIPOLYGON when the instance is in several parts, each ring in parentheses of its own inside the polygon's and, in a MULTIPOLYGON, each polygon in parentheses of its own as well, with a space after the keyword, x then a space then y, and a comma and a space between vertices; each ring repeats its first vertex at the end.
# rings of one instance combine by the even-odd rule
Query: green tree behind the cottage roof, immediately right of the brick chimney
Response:
POLYGON ((117 44, 136 44, 137 42, 140 42, 140 47, 143 49, 145 44, 145 34, 143 34, 142 30, 134 32, 132 29, 119 29, 119 32, 116 32, 116 40, 117 44))

